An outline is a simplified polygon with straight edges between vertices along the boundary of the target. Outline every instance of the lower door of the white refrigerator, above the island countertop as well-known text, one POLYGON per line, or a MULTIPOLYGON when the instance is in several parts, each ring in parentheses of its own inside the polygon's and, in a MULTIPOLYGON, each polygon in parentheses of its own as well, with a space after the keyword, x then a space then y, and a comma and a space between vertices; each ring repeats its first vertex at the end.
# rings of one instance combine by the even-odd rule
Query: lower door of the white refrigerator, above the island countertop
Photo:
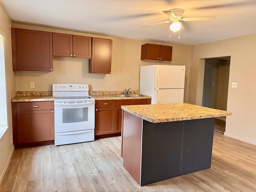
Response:
POLYGON ((184 89, 158 89, 155 90, 152 104, 183 103, 184 89), (153 103, 154 102, 154 103, 153 103))

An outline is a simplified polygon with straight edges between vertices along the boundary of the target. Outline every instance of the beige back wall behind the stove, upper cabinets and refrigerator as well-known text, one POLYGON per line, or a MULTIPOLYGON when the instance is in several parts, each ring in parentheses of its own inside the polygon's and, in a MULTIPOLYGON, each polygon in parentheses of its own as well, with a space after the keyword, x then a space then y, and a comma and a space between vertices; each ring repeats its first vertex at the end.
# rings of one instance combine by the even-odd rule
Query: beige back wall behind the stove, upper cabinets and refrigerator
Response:
MULTIPOLYGON (((53 72, 16 71, 16 91, 46 91, 52 90, 53 83, 86 83, 89 90, 124 90, 132 88, 139 90, 140 66, 159 64, 156 62, 144 62, 140 60, 141 45, 148 43, 139 40, 115 38, 109 36, 96 36, 64 30, 42 28, 14 24, 16 28, 77 34, 113 40, 111 74, 88 73, 88 60, 76 58, 54 58, 53 72), (29 82, 35 82, 35 88, 29 88, 29 82)), ((155 42, 152 42, 155 43, 155 42)), ((172 62, 161 64, 186 65, 185 96, 188 97, 188 79, 190 71, 190 57, 192 46, 155 43, 173 46, 172 62)))

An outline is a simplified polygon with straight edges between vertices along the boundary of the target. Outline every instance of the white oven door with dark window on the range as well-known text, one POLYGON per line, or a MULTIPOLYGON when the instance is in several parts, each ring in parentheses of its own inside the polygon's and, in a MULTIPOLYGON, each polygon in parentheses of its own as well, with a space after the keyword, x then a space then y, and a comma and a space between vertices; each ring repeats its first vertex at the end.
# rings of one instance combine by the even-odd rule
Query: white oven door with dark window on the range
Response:
POLYGON ((55 133, 94 129, 95 101, 54 101, 55 133))

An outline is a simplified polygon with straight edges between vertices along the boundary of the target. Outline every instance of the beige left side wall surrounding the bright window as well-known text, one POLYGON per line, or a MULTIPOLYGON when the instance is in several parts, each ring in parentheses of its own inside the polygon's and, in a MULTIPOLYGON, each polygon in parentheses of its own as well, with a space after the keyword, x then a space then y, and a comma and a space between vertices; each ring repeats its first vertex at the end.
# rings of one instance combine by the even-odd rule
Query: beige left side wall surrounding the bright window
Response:
POLYGON ((10 157, 14 150, 11 143, 12 136, 12 107, 11 98, 15 96, 15 76, 12 71, 12 47, 11 47, 11 30, 12 21, 8 16, 4 7, 0 3, 0 34, 4 37, 5 47, 5 68, 6 68, 6 98, 7 98, 7 113, 8 113, 8 126, 4 135, 0 138, 0 184, 4 177, 6 168, 10 162, 10 157))

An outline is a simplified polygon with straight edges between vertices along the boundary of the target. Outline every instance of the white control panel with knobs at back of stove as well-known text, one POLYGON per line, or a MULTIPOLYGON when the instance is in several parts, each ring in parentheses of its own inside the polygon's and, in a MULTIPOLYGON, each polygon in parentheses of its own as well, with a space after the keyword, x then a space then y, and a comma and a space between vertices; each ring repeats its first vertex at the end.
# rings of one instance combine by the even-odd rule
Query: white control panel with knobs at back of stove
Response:
POLYGON ((52 84, 52 91, 88 91, 88 84, 52 84))

